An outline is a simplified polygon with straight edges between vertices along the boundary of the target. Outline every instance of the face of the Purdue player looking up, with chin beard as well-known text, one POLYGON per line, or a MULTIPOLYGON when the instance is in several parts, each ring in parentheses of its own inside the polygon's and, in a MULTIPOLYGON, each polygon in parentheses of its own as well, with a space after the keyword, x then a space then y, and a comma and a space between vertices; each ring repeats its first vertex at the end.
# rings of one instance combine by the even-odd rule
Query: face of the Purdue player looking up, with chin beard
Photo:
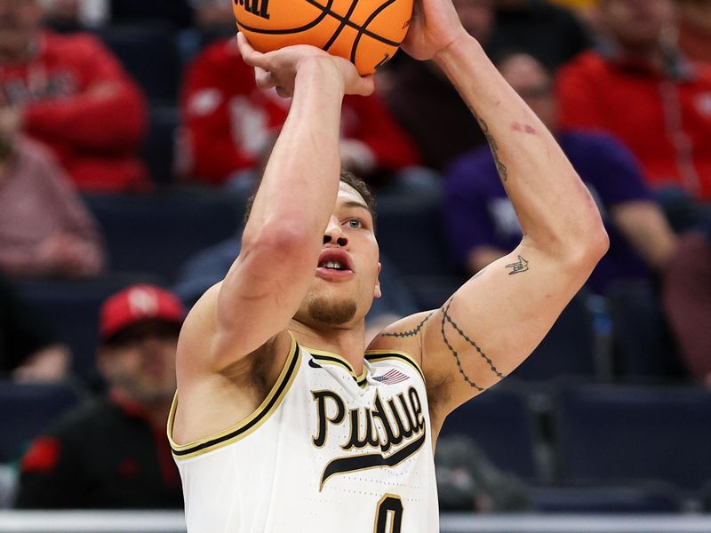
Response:
POLYGON ((380 296, 379 271, 371 213, 356 189, 341 182, 314 282, 296 320, 327 326, 362 321, 380 296))

